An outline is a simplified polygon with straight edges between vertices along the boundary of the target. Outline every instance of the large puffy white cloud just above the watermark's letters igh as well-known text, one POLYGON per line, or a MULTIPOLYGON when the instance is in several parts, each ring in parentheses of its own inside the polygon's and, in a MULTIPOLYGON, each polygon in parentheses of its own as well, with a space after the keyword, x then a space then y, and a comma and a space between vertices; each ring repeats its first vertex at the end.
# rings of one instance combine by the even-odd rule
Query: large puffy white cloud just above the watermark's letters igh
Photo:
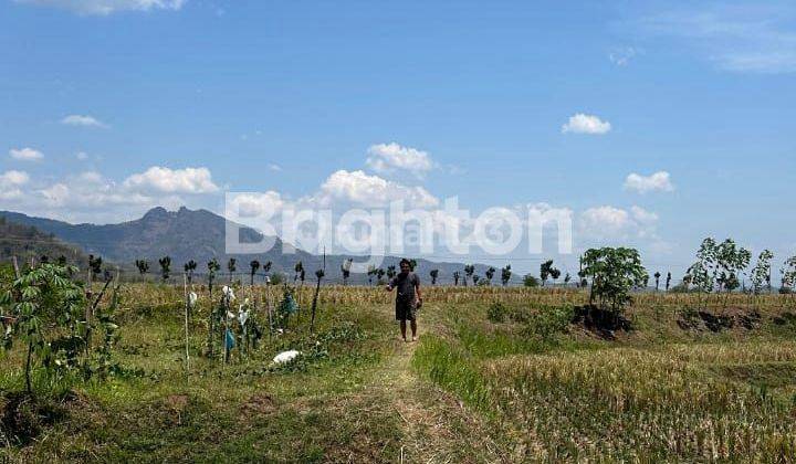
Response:
POLYGON ((429 208, 439 203, 439 200, 422 187, 408 187, 378 176, 368 176, 363 171, 344 169, 332 173, 324 181, 315 200, 323 207, 335 202, 385 207, 396 200, 405 200, 413 208, 429 208))

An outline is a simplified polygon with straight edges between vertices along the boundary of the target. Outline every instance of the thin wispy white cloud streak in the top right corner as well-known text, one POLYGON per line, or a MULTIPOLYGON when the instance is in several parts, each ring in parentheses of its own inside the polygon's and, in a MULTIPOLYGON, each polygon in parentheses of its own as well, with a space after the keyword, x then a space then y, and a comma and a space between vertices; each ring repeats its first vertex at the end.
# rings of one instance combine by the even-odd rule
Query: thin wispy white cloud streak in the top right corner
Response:
POLYGON ((793 2, 750 2, 681 9, 638 24, 648 33, 681 39, 682 46, 720 68, 771 74, 796 72, 795 19, 793 2))

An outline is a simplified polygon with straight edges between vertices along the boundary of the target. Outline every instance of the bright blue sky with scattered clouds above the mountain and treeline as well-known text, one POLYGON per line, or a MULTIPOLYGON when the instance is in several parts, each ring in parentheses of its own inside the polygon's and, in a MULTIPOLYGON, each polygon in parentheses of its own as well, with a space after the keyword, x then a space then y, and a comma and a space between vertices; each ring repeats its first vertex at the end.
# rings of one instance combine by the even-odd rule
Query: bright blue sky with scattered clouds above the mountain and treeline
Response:
POLYGON ((656 267, 709 234, 796 253, 793 2, 0 0, 0 56, 1 209, 422 189, 656 267))

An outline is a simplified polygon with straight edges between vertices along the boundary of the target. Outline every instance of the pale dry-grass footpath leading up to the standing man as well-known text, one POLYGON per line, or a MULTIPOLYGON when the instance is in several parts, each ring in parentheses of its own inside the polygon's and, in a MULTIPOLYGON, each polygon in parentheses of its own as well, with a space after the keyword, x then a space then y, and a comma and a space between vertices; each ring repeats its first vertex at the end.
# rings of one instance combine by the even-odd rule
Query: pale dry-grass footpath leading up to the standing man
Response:
MULTIPOLYGON (((420 324, 420 339, 433 327, 420 324)), ((401 418, 405 463, 501 462, 483 420, 454 398, 417 377, 411 357, 418 342, 404 342, 396 327, 395 355, 374 372, 366 389, 389 402, 401 418)))

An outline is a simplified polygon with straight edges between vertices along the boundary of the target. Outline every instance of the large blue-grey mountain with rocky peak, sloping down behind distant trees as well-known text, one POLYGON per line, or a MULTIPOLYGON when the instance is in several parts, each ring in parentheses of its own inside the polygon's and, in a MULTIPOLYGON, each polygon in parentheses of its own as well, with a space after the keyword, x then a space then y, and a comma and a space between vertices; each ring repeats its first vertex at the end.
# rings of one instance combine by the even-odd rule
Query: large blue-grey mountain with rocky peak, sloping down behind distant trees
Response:
MULTIPOLYGON (((70 224, 52 219, 33 218, 17 212, 0 212, 0 217, 9 221, 32 225, 43 232, 51 233, 56 238, 77 244, 86 253, 103 256, 106 261, 119 263, 130 268, 135 260, 147 259, 150 270, 157 268, 157 260, 163 256, 171 256, 172 272, 179 272, 182 264, 189 260, 199 263, 198 273, 207 270, 206 263, 212 257, 221 262, 226 271, 226 262, 230 257, 224 253, 226 219, 207 210, 189 210, 180 208, 178 211, 166 211, 164 208, 154 208, 143 218, 135 221, 119 224, 70 224)), ((259 242, 262 234, 253 229, 241 230, 242 242, 259 242)), ((274 238, 275 245, 268 252, 256 255, 232 255, 238 260, 238 272, 248 273, 249 262, 259 260, 261 263, 271 261, 273 271, 282 271, 292 275, 293 266, 302 261, 307 273, 307 278, 314 278, 315 270, 322 266, 322 257, 307 253, 303 250, 295 250, 293 254, 284 254, 283 249, 293 249, 284 244, 279 238, 274 238)), ((326 275, 329 281, 341 280, 341 264, 347 256, 326 256, 326 275)), ((356 259, 356 257, 355 257, 356 259)), ((398 257, 388 256, 383 267, 397 265, 398 257)), ((429 271, 440 271, 440 282, 451 282, 454 271, 462 272, 464 265, 461 263, 433 263, 427 260, 418 260, 417 272, 425 280, 429 280, 429 271)), ((486 266, 476 265, 476 274, 483 276, 486 266)), ((463 272, 462 272, 463 274, 463 272)), ((516 278, 516 276, 515 276, 516 278)), ((352 276, 352 282, 364 282, 367 277, 352 276)), ((500 282, 500 270, 495 273, 494 281, 500 282)))

